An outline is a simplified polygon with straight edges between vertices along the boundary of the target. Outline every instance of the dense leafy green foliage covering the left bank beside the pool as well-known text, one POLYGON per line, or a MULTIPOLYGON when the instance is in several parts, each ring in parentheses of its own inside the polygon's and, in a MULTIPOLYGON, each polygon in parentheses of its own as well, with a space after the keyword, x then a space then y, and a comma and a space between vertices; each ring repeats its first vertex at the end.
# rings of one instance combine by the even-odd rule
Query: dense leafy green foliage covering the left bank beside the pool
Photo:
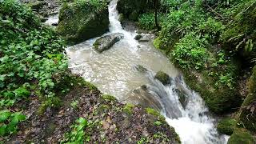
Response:
POLYGON ((32 83, 46 96, 41 110, 59 106, 54 89, 66 77, 65 42, 20 2, 1 1, 0 15, 0 108, 28 98, 32 83))

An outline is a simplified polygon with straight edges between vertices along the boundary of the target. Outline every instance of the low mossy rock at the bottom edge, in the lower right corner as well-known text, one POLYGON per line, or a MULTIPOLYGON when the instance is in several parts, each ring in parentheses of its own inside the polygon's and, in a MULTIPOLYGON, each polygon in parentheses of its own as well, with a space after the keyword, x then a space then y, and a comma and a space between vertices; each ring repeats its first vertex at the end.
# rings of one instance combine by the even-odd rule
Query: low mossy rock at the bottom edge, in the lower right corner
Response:
POLYGON ((236 128, 231 135, 228 144, 255 144, 255 138, 245 129, 236 128))

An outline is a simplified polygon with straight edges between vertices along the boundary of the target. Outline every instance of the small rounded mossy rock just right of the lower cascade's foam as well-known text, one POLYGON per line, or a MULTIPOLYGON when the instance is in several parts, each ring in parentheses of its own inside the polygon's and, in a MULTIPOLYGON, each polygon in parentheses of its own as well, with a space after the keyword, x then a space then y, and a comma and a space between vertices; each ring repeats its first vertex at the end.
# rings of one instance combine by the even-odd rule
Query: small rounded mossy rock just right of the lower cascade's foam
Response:
POLYGON ((233 118, 224 118, 218 122, 217 130, 221 134, 231 135, 233 134, 234 128, 237 121, 233 118))

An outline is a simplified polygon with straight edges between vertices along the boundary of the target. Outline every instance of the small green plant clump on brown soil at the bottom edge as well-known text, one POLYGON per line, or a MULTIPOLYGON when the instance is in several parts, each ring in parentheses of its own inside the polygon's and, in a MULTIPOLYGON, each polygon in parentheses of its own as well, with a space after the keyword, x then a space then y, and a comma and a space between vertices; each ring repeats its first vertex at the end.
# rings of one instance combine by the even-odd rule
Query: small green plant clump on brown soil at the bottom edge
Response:
POLYGON ((90 137, 86 136, 84 129, 88 126, 85 118, 78 118, 73 126, 70 126, 71 131, 65 134, 65 138, 61 143, 84 143, 90 141, 90 137))

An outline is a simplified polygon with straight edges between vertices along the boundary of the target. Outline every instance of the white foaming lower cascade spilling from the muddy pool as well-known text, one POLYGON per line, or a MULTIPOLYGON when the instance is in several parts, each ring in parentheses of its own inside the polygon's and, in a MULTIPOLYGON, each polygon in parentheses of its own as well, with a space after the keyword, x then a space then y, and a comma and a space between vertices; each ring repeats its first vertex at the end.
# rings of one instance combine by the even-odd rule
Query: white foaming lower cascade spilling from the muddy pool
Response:
POLYGON ((148 90, 161 103, 162 114, 179 134, 182 143, 226 143, 226 137, 218 134, 214 118, 209 115, 202 98, 186 86, 182 76, 170 78, 171 84, 164 86, 154 78, 154 72, 149 71, 146 75, 150 79, 148 90), (186 93, 186 106, 182 106, 177 90, 186 93))

